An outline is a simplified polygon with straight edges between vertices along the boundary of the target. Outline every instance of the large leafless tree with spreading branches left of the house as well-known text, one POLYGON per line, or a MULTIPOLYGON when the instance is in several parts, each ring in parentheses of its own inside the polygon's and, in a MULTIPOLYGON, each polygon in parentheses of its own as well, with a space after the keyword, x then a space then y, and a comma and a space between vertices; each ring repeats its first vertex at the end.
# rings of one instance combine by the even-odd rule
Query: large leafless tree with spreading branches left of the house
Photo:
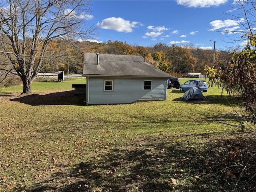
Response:
POLYGON ((90 1, 6 0, 0 5, 1 39, 5 39, 0 52, 1 58, 9 60, 8 65, 1 64, 1 77, 10 73, 20 76, 22 93, 31 93, 32 81, 45 60, 51 59, 46 57, 50 42, 86 40, 96 35, 96 27, 86 23, 90 1))

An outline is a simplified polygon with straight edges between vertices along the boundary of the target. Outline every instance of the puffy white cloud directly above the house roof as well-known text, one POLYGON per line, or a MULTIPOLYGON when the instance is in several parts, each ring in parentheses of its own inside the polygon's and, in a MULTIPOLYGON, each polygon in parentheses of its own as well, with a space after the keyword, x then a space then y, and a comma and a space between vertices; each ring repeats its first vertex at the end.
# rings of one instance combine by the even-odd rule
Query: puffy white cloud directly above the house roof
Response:
POLYGON ((138 22, 130 22, 129 20, 124 20, 123 18, 110 17, 98 22, 97 26, 102 29, 112 29, 118 32, 133 32, 132 28, 137 27, 138 22))

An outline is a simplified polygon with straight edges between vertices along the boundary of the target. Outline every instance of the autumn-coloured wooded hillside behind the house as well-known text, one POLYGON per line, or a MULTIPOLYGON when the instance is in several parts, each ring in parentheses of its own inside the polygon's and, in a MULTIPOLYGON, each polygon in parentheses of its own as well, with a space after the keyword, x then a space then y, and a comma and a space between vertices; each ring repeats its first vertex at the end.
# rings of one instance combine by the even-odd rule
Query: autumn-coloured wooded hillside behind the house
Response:
MULTIPOLYGON (((8 39, 6 41, 8 42, 8 39)), ((11 46, 9 50, 12 50, 11 46)), ((40 72, 63 70, 65 74, 82 74, 84 52, 143 56, 146 62, 173 76, 180 76, 188 72, 204 74, 204 66, 212 66, 214 55, 214 50, 203 50, 192 45, 182 47, 158 43, 154 46, 139 46, 118 40, 109 40, 103 43, 53 40, 49 43, 40 72)), ((228 51, 215 51, 214 62, 226 63, 230 58, 231 54, 228 51)), ((8 63, 11 65, 10 60, 4 54, 1 54, 1 60, 6 67, 8 67, 8 63)))

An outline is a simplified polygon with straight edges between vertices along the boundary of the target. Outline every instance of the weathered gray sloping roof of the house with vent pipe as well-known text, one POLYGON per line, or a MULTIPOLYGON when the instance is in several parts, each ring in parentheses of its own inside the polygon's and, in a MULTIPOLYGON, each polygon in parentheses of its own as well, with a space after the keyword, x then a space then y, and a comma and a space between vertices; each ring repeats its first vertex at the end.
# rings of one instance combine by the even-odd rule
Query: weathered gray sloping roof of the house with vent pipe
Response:
POLYGON ((99 54, 99 64, 95 53, 84 54, 86 76, 130 76, 130 77, 163 77, 170 75, 144 62, 142 56, 99 54))

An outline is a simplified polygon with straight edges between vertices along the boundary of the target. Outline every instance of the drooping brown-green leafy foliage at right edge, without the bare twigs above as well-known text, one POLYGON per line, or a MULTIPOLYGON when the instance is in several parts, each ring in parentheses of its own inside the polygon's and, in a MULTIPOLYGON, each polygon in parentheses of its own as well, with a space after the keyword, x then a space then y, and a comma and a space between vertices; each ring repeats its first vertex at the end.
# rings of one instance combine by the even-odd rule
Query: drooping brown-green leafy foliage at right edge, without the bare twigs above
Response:
POLYGON ((232 53, 227 65, 221 62, 214 68, 205 66, 211 81, 230 95, 241 96, 250 119, 256 124, 256 35, 249 34, 249 44, 240 52, 232 53))

